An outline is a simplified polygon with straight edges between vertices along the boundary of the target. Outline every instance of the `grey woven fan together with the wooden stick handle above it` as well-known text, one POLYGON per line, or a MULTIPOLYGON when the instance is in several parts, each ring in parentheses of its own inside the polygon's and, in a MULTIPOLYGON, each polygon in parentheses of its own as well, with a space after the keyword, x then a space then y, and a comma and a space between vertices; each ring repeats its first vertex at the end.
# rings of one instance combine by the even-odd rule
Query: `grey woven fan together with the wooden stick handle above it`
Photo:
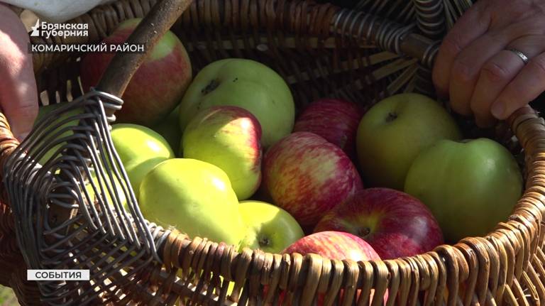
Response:
MULTIPOLYGON (((189 4, 191 0, 155 4, 127 43, 143 43, 150 53, 189 4)), ((28 268, 85 269, 93 280, 40 282, 45 302, 95 303, 126 285, 116 282, 120 273, 133 278, 154 259, 160 261, 158 226, 138 209, 109 132, 114 112, 123 104, 119 97, 146 55, 116 54, 97 86, 101 90, 44 116, 21 145, 0 155, 28 268)))

